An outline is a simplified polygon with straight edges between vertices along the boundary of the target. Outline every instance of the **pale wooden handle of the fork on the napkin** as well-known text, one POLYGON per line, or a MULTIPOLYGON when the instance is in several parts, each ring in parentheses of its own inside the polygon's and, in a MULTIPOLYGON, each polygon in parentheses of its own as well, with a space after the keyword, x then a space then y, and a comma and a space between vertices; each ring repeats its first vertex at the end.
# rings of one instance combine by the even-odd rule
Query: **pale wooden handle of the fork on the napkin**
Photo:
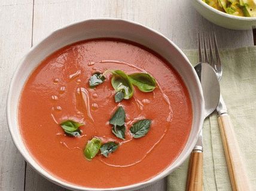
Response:
POLYGON ((228 172, 230 176, 233 191, 249 191, 249 179, 245 173, 242 158, 239 152, 239 146, 234 134, 234 129, 227 113, 218 117, 218 123, 221 131, 221 138, 227 161, 228 172))

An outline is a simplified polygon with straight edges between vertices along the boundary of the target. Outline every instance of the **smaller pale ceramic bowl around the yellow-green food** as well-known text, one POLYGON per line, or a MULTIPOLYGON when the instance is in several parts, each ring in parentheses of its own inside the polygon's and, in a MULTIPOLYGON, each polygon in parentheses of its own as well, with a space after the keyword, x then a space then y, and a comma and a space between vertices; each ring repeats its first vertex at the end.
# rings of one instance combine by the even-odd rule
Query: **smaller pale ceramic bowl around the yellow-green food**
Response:
POLYGON ((256 28, 256 17, 239 17, 212 8, 202 0, 191 0, 192 5, 205 19, 214 24, 236 30, 256 28))

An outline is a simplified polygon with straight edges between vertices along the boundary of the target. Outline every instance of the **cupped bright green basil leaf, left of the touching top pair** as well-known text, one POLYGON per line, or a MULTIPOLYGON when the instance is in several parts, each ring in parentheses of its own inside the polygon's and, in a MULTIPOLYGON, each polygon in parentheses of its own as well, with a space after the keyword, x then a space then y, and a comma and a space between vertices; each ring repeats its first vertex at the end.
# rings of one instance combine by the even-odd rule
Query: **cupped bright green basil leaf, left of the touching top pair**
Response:
POLYGON ((133 85, 130 78, 121 70, 114 70, 112 72, 111 84, 115 91, 123 91, 124 99, 128 100, 133 95, 133 85))

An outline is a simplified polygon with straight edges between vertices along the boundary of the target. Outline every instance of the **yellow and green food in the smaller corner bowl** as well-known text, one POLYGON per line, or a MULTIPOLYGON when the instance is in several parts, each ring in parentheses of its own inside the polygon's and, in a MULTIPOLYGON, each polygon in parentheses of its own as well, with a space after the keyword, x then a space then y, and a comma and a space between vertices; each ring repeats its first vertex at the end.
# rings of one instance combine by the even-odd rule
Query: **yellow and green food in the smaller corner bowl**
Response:
POLYGON ((217 10, 234 16, 256 17, 256 0, 202 0, 217 10))

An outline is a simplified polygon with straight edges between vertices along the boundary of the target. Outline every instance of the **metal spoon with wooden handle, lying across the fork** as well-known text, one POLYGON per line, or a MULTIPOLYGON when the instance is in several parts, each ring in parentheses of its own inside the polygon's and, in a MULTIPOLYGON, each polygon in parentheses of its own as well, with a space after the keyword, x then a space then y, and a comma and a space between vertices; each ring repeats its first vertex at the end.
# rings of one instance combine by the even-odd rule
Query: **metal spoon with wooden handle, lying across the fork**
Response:
MULTIPOLYGON (((205 100, 204 118, 208 117, 220 100, 220 84, 214 69, 208 63, 199 63, 194 69, 199 77, 205 100)), ((187 191, 203 190, 203 134, 200 131, 191 156, 187 175, 187 191)))

